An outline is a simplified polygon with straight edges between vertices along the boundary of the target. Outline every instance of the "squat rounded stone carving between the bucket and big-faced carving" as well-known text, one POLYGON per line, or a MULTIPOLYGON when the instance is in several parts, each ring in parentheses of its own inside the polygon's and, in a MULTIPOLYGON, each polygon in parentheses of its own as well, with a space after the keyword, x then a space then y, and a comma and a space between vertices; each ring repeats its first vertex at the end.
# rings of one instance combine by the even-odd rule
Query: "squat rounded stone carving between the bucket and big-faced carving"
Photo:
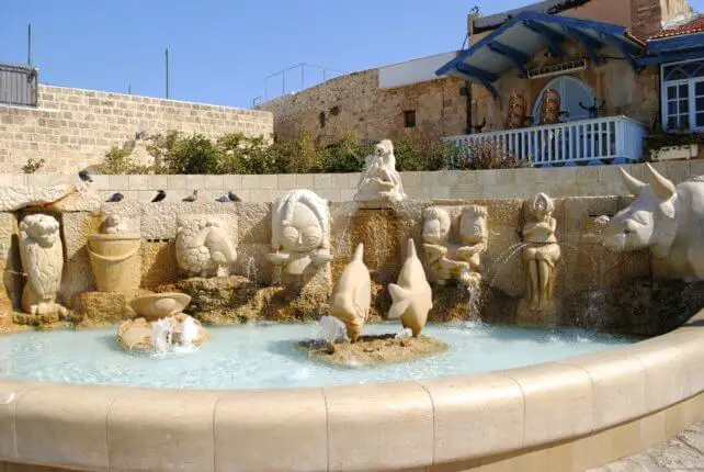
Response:
POLYGON ((188 277, 229 274, 237 259, 225 224, 218 218, 180 221, 177 228, 177 263, 188 277))

